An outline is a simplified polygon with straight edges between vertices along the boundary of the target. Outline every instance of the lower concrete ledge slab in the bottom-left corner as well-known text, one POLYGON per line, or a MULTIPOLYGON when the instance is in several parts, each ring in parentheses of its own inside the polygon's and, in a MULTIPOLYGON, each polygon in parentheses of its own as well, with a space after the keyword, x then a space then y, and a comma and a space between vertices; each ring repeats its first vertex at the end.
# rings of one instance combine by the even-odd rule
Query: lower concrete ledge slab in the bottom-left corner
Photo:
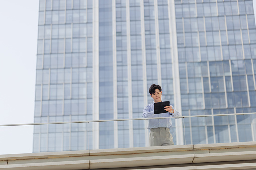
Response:
POLYGON ((89 160, 67 161, 67 162, 47 162, 47 163, 29 163, 2 165, 0 169, 34 170, 34 169, 89 169, 89 160))

